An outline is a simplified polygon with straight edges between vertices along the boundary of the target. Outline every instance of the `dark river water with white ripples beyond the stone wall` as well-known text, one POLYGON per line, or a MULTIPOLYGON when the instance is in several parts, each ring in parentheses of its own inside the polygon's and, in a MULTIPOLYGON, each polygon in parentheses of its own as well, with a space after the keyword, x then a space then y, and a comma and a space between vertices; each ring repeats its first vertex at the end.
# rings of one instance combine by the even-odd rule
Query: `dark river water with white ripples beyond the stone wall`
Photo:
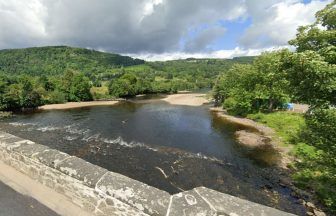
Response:
POLYGON ((236 143, 241 126, 208 106, 162 101, 16 114, 0 129, 177 193, 205 186, 299 215, 273 149, 236 143))

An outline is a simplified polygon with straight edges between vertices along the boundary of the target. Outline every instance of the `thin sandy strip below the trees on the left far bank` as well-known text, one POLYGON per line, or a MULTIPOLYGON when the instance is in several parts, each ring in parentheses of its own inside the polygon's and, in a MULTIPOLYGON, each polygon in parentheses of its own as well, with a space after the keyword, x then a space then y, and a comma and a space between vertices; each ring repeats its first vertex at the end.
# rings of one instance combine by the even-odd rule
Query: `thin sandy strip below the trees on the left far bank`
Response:
POLYGON ((61 110, 89 106, 108 106, 117 104, 119 101, 87 101, 87 102, 69 102, 64 104, 48 104, 39 107, 41 110, 61 110))

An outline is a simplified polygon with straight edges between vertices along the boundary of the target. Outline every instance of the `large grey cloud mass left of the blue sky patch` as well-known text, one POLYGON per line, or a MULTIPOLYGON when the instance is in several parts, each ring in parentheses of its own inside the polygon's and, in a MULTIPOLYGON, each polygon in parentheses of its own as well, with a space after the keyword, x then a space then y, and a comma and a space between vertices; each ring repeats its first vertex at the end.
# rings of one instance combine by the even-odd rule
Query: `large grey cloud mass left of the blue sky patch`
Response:
POLYGON ((19 20, 0 20, 1 27, 9 25, 8 34, 0 33, 0 48, 66 44, 121 53, 161 53, 176 51, 190 27, 240 16, 242 1, 163 0, 144 16, 144 6, 151 0, 29 0, 40 5, 30 14, 41 21, 45 34, 36 34, 34 24, 25 23, 22 13, 29 10, 27 1, 0 0, 0 9, 4 2, 11 2, 19 20))

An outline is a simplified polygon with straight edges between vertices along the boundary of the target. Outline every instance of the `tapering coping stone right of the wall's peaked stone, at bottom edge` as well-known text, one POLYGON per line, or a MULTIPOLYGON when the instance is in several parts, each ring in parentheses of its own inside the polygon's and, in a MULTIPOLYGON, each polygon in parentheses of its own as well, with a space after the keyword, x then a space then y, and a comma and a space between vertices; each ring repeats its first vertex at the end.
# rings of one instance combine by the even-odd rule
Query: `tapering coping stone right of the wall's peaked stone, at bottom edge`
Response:
POLYGON ((237 215, 237 216, 289 216, 289 214, 274 208, 263 206, 248 200, 243 200, 228 194, 220 193, 205 187, 194 189, 202 196, 219 215, 237 215))

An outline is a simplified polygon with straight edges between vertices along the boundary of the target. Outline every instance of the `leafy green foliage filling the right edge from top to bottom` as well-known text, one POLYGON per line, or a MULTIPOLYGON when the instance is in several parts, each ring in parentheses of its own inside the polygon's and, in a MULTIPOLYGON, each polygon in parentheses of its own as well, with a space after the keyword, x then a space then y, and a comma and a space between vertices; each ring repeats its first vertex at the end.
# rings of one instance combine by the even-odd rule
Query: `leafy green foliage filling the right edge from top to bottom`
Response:
POLYGON ((315 154, 298 151, 302 162, 296 164, 293 177, 298 186, 316 192, 332 214, 336 213, 335 6, 333 1, 316 14, 314 24, 298 29, 297 37, 290 41, 297 53, 285 64, 295 96, 310 105, 302 139, 315 150, 315 154))

